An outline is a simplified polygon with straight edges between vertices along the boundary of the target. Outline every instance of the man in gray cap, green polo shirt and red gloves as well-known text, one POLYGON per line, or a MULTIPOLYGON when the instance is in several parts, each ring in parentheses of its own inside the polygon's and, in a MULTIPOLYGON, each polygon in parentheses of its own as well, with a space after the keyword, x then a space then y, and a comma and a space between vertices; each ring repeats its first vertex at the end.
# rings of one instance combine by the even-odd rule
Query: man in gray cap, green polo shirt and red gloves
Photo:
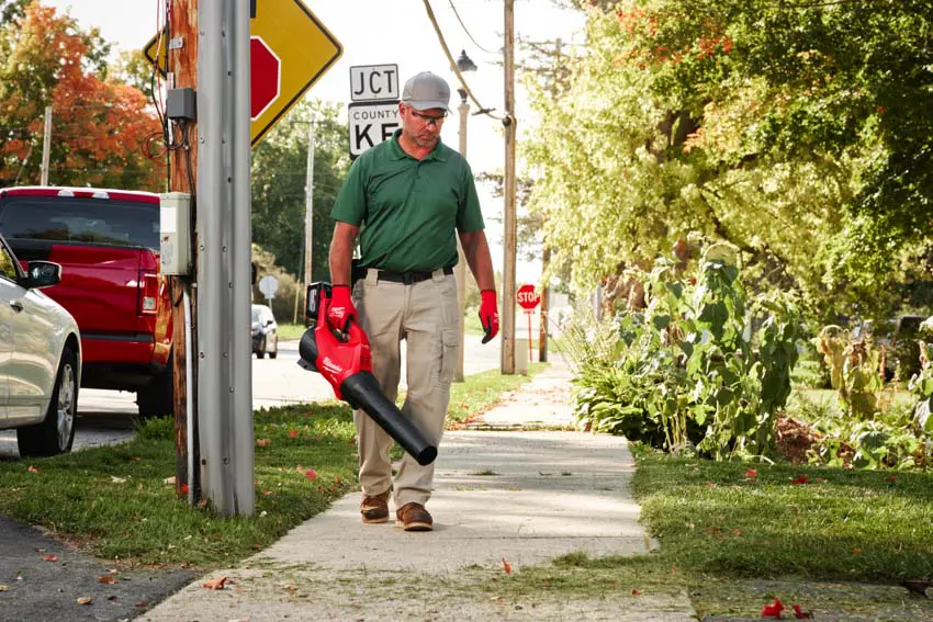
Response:
MULTIPOLYGON (((402 412, 438 444, 443 433, 450 382, 460 347, 460 308, 453 265, 457 234, 481 291, 483 342, 498 332, 498 309, 490 247, 473 173, 466 160, 440 142, 450 87, 430 72, 405 83, 402 128, 366 151, 350 167, 337 195, 330 241, 331 327, 360 323, 372 347, 373 374, 395 400, 401 377, 401 341, 406 341, 408 392, 402 412), (351 291, 351 257, 359 236, 360 280, 351 291), (359 309, 359 312, 357 312, 359 309)), ((389 520, 394 484, 396 525, 430 531, 425 504, 434 464, 405 454, 395 479, 392 438, 362 410, 353 414, 360 452, 360 512, 364 523, 389 520)))

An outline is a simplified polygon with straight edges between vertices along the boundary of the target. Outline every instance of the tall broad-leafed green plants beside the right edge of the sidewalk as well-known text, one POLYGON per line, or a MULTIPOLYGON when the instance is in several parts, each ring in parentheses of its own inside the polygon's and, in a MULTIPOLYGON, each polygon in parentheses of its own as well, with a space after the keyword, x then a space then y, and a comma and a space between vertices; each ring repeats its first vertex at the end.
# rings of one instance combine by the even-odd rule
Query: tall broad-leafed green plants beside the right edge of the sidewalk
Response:
POLYGON ((647 309, 565 330, 581 426, 722 460, 766 453, 790 395, 800 323, 785 295, 746 301, 734 253, 707 249, 696 273, 661 258, 647 309))

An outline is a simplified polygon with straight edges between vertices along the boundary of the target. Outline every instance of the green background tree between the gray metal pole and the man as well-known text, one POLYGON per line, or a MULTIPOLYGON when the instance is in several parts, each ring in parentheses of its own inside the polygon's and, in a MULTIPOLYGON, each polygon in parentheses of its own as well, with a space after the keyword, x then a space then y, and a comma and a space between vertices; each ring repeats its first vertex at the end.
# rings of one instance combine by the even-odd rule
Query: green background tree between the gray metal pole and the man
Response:
POLYGON ((300 103, 252 152, 252 239, 301 276, 304 251, 307 129, 315 120, 313 280, 329 281, 330 212, 350 166, 337 104, 300 103))

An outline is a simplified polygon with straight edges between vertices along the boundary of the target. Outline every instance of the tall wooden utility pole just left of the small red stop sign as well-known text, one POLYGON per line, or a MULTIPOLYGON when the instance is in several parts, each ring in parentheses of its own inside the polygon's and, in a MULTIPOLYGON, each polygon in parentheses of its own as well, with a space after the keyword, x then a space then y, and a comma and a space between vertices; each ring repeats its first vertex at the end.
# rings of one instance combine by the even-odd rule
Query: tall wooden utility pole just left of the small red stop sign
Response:
POLYGON ((515 373, 515 0, 505 0, 505 236, 502 275, 502 373, 515 373))

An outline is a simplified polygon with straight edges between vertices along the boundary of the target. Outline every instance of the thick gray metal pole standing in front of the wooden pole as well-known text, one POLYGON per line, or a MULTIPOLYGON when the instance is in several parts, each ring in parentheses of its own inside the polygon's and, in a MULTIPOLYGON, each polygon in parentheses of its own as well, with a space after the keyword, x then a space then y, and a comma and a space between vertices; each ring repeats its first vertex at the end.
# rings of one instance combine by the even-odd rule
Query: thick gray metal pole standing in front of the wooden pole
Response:
POLYGON ((249 10, 198 7, 198 416, 202 486, 254 511, 249 325, 249 10))

